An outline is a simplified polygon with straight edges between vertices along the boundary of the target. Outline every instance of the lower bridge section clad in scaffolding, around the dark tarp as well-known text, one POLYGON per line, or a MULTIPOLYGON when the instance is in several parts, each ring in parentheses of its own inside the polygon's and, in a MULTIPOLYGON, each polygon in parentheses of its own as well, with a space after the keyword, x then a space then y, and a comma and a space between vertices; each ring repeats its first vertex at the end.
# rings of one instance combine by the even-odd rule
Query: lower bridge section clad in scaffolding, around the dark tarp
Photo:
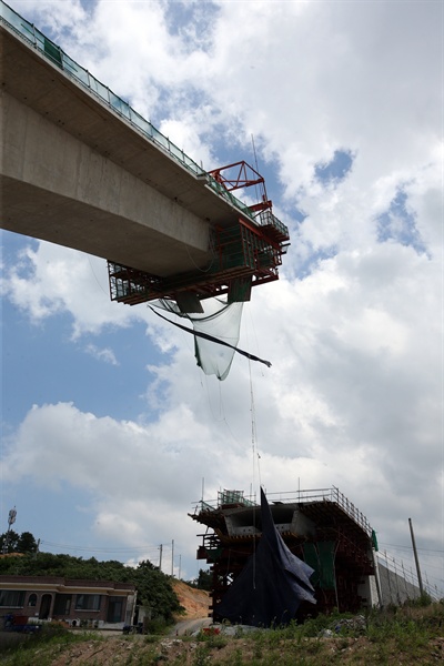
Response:
MULTIPOLYGON (((371 606, 365 578, 374 576, 372 529, 365 516, 336 487, 268 495, 276 529, 290 551, 313 569, 315 613, 357 612, 371 606)), ((254 555, 261 539, 261 509, 255 497, 223 491, 216 501, 195 503, 194 521, 206 526, 198 559, 212 571, 212 606, 254 555)), ((306 608, 313 615, 313 607, 306 608)), ((301 613, 304 613, 302 607, 301 613)), ((213 617, 218 619, 216 614, 213 617)))

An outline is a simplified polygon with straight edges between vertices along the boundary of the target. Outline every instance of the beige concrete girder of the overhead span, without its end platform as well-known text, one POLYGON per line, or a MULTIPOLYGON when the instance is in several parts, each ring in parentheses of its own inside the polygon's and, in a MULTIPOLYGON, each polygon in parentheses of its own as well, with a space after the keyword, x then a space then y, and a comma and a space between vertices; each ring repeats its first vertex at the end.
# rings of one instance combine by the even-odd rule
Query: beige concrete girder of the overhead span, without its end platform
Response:
POLYGON ((14 30, 17 14, 7 9, 2 3, 1 225, 159 275, 203 268, 211 228, 239 219, 234 198, 218 195, 183 153, 192 168, 174 160, 169 145, 178 149, 142 118, 127 119, 129 107, 91 75, 88 88, 64 59, 61 69, 44 41, 42 52, 31 32, 26 39, 26 21, 14 30))

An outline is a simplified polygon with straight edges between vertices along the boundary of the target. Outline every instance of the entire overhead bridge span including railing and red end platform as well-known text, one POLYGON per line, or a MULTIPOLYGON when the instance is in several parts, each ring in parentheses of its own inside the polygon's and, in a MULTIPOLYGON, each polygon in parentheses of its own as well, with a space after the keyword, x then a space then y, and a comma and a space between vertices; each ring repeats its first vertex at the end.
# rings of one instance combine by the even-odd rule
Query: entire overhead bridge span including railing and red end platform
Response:
POLYGON ((243 204, 2 0, 0 10, 4 229, 102 256, 114 275, 135 269, 110 274, 123 302, 192 291, 194 279, 199 297, 278 279, 289 233, 265 196, 243 204))

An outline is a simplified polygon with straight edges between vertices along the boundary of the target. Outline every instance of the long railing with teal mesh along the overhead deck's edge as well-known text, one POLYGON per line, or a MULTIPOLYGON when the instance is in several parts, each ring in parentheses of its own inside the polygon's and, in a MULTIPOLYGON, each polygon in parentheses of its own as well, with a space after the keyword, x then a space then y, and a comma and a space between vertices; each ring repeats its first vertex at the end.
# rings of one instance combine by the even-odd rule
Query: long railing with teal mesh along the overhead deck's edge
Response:
POLYGON ((13 9, 0 0, 0 19, 3 23, 8 24, 20 38, 30 42, 38 51, 40 51, 46 58, 48 58, 53 64, 59 67, 65 74, 75 79, 81 83, 88 91, 94 97, 100 98, 102 102, 105 102, 113 111, 115 111, 122 119, 130 122, 137 128, 142 134, 153 141, 158 147, 162 148, 179 162, 182 167, 194 173, 200 178, 205 178, 205 182, 210 188, 221 198, 229 201, 234 208, 242 211, 244 215, 251 218, 255 222, 253 213, 250 209, 239 199, 233 196, 225 189, 221 190, 219 183, 206 173, 194 160, 186 155, 183 150, 178 148, 168 137, 162 134, 154 128, 151 122, 145 120, 140 113, 122 98, 117 95, 107 85, 103 85, 95 77, 93 77, 88 70, 81 67, 78 62, 72 60, 60 47, 48 39, 40 30, 32 23, 23 19, 13 9))

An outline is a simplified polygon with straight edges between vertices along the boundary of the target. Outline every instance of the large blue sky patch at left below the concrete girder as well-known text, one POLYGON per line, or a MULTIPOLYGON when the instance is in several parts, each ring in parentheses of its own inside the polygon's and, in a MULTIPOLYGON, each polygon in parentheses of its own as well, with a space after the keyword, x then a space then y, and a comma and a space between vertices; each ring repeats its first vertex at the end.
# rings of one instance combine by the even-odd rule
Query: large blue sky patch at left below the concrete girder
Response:
POLYGON ((73 343, 68 312, 36 325, 3 299, 2 314, 8 322, 2 331, 3 376, 9 377, 2 412, 12 426, 33 403, 73 402, 81 411, 97 416, 112 413, 117 420, 138 421, 142 413, 147 421, 158 417, 159 406, 147 403, 147 391, 155 381, 147 366, 168 357, 147 336, 144 322, 134 322, 131 329, 107 326, 100 336, 85 333, 73 343))

